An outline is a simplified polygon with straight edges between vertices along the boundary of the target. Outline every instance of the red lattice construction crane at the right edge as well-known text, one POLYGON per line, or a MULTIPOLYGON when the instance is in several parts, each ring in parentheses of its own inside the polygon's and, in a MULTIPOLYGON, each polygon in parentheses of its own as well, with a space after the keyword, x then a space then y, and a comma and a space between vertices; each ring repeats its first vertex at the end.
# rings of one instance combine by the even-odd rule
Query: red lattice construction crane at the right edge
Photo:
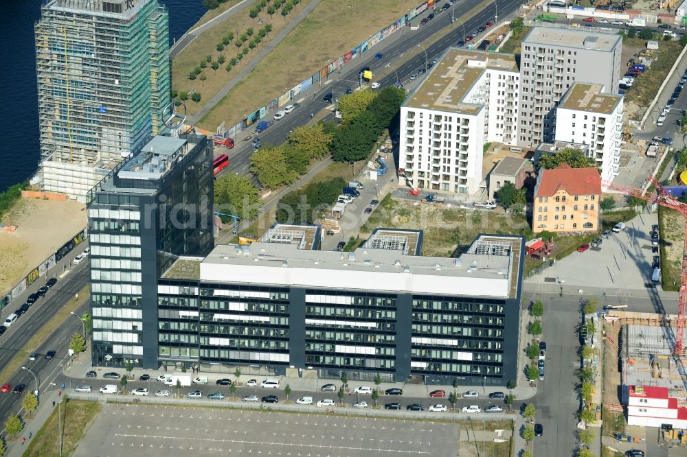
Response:
MULTIPOLYGON (((641 198, 642 200, 659 204, 662 207, 671 208, 682 214, 685 218, 685 231, 682 246, 682 269, 680 270, 680 289, 679 298, 677 300, 677 323, 675 324, 675 331, 673 333, 673 360, 677 365, 677 371, 682 378, 682 384, 687 390, 687 372, 682 364, 682 357, 684 356, 684 329, 685 329, 685 304, 687 303, 687 204, 680 202, 672 196, 661 183, 653 176, 649 176, 649 182, 655 186, 655 191, 643 191, 633 187, 618 185, 609 181, 600 180, 602 188, 613 189, 620 193, 641 198)), ((668 330, 668 336, 670 335, 668 330)))

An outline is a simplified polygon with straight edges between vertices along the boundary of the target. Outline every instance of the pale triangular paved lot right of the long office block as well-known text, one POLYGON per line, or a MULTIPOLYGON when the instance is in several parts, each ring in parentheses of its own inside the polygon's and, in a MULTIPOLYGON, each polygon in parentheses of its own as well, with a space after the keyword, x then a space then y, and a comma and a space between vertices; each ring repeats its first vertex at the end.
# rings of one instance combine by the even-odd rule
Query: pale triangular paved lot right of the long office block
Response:
POLYGON ((657 223, 657 213, 638 215, 627 222, 624 231, 604 239, 599 248, 572 253, 528 282, 556 283, 568 291, 585 287, 646 290, 649 285, 660 288, 660 283, 651 281, 653 253, 649 233, 651 225, 657 223))

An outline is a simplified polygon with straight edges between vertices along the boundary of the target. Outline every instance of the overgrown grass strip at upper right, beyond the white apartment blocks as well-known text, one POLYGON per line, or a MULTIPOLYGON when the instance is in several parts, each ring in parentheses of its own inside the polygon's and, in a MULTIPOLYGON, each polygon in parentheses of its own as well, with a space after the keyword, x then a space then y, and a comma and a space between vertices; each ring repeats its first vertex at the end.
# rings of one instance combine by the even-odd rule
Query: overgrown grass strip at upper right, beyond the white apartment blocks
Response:
MULTIPOLYGON (((644 46, 646 40, 639 38, 628 38, 623 45, 630 46, 644 46)), ((633 84, 632 88, 625 94, 625 103, 634 103, 638 106, 649 106, 651 100, 655 97, 658 89, 668 76, 668 71, 671 70, 677 56, 682 51, 679 41, 660 41, 658 51, 654 51, 654 59, 651 67, 646 69, 633 84)), ((643 115, 644 113, 636 113, 643 115)))

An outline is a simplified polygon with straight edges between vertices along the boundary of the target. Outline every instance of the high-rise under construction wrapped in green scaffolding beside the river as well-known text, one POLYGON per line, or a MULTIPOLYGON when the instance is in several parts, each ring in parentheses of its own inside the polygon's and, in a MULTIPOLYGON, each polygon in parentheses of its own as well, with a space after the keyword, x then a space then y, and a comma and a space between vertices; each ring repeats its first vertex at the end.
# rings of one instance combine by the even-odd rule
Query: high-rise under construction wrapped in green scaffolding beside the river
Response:
POLYGON ((43 189, 83 198, 164 129, 168 13, 157 0, 48 0, 36 24, 43 189))

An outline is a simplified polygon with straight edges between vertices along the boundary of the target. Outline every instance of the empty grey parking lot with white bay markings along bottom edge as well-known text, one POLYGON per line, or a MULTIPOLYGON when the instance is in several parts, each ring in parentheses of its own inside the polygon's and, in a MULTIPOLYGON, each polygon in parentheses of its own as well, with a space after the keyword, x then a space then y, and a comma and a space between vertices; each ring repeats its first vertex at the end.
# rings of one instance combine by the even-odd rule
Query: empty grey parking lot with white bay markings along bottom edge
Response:
POLYGON ((455 424, 336 415, 106 404, 75 456, 455 456, 455 424), (146 450, 144 451, 145 448, 146 450), (132 454, 133 455, 133 454, 132 454))

